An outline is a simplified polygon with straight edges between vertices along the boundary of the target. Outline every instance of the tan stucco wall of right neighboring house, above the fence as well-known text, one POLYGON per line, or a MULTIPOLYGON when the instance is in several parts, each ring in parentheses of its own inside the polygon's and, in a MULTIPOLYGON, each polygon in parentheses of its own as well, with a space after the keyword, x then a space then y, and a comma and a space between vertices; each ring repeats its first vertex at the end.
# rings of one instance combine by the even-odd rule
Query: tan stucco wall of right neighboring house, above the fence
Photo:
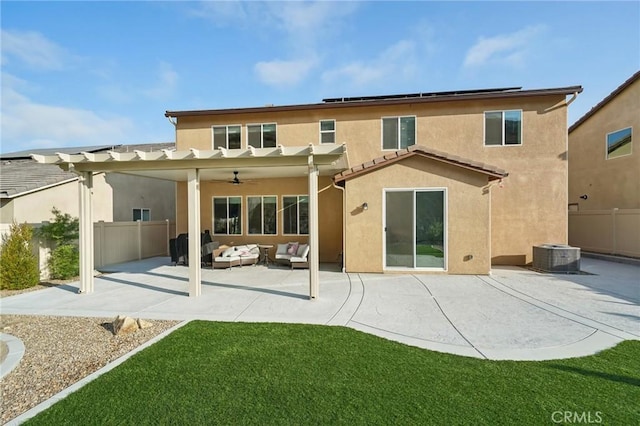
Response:
POLYGON ((569 134, 569 203, 579 210, 640 208, 640 80, 569 134), (632 127, 632 153, 606 159, 607 133, 632 127), (587 195, 587 199, 580 198, 587 195))

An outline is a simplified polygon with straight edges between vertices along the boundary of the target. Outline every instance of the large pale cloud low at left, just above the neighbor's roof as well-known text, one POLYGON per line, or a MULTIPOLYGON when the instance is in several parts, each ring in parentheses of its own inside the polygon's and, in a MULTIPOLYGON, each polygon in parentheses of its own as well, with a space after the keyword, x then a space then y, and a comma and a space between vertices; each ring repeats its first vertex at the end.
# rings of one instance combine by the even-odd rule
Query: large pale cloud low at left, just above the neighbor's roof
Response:
POLYGON ((130 139, 128 135, 134 128, 130 119, 101 117, 85 109, 34 102, 17 90, 23 83, 11 75, 2 75, 3 151, 114 144, 130 139))

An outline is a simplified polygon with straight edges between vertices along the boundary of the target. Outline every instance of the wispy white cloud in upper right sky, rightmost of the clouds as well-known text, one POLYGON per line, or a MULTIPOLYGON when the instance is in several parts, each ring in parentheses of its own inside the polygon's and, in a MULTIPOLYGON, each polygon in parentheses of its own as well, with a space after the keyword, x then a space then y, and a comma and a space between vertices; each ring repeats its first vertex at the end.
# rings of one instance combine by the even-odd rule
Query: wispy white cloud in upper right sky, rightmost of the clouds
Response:
POLYGON ((464 66, 477 67, 489 62, 520 66, 523 64, 527 49, 534 42, 535 37, 544 30, 544 25, 536 25, 511 34, 480 37, 467 51, 464 66))

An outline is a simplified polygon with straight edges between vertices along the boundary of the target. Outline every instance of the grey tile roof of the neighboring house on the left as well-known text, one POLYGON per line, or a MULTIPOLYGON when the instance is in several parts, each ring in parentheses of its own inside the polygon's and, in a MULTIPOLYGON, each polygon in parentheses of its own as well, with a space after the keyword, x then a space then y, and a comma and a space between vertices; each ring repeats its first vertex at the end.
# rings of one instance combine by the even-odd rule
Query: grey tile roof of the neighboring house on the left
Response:
POLYGON ((174 143, 155 143, 140 145, 99 145, 68 148, 45 148, 0 154, 0 198, 14 198, 29 192, 39 191, 50 186, 61 185, 78 179, 73 172, 62 170, 55 164, 40 164, 31 158, 36 155, 80 154, 104 151, 133 152, 159 151, 175 148, 174 143))

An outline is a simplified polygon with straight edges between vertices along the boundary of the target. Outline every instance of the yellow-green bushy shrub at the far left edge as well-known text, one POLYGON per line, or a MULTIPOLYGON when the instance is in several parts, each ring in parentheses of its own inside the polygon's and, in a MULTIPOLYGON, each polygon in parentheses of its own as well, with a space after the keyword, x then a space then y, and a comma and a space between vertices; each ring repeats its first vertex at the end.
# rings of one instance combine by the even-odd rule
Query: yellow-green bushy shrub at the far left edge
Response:
POLYGON ((2 237, 0 251, 0 288, 17 290, 40 282, 38 259, 33 254, 33 230, 26 223, 13 222, 2 237))

